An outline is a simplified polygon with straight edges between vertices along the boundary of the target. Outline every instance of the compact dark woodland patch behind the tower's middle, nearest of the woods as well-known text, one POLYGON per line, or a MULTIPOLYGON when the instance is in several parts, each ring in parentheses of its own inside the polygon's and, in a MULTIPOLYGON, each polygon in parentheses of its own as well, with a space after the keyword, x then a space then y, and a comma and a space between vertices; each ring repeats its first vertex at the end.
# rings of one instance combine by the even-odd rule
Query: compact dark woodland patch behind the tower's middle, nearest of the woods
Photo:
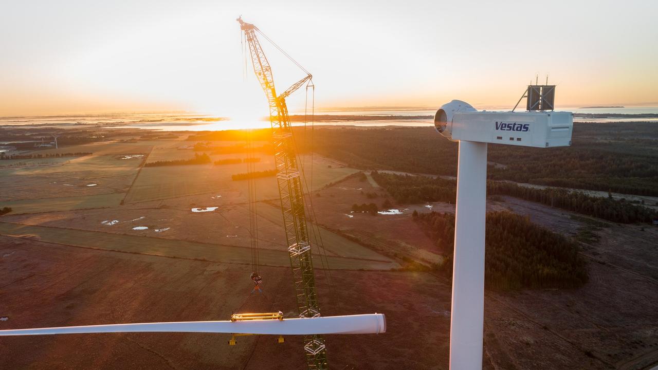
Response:
MULTIPOLYGON (((414 219, 445 257, 436 269, 451 278, 455 215, 414 213, 414 219)), ((488 289, 576 288, 588 281, 576 242, 509 211, 486 216, 484 265, 488 289)))

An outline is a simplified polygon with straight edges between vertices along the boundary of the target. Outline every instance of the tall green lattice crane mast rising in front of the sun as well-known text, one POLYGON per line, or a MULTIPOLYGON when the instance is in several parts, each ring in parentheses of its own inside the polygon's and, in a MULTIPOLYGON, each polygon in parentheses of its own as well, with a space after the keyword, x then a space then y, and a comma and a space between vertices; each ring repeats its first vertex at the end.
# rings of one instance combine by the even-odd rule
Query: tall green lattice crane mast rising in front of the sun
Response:
MULTIPOLYGON (((297 298, 299 317, 319 317, 320 306, 315 289, 315 274, 311 257, 311 240, 307 227, 304 207, 304 194, 301 171, 293 141, 286 97, 311 80, 311 74, 296 82, 281 95, 276 95, 272 68, 267 61, 259 42, 253 24, 243 22, 238 18, 240 28, 244 32, 249 45, 253 70, 261 83, 270 106, 270 125, 274 144, 274 164, 276 165, 276 181, 278 184, 281 211, 286 231, 286 246, 290 255, 290 265, 297 298)), ((304 337, 304 350, 309 369, 328 369, 324 338, 318 335, 304 337)))

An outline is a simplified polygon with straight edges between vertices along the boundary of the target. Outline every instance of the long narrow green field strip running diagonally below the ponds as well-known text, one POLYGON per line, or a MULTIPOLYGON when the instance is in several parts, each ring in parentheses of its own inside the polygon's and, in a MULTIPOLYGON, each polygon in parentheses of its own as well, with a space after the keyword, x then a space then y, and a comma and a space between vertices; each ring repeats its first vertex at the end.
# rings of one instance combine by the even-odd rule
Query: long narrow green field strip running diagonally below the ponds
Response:
MULTIPOLYGON (((251 263, 251 249, 225 246, 222 244, 207 244, 184 240, 149 238, 147 236, 111 234, 108 232, 72 230, 69 228, 46 226, 28 226, 2 222, 0 222, 0 234, 37 238, 43 242, 99 250, 163 255, 166 257, 200 259, 220 263, 251 263)), ((259 255, 263 265, 290 267, 290 260, 286 251, 260 250, 259 255)), ((371 261, 366 259, 328 257, 328 261, 332 269, 390 270, 399 267, 394 262, 371 261)), ((315 265, 321 269, 322 264, 319 262, 319 260, 316 261, 315 265)))

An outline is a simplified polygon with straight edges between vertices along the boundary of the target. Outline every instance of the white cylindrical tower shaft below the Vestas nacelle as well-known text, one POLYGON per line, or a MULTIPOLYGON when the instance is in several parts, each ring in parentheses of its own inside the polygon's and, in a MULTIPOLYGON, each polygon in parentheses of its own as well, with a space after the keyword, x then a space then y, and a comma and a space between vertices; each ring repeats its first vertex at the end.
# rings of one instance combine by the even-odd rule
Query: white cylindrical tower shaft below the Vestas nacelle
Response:
POLYGON ((459 142, 450 369, 482 369, 487 144, 459 142))

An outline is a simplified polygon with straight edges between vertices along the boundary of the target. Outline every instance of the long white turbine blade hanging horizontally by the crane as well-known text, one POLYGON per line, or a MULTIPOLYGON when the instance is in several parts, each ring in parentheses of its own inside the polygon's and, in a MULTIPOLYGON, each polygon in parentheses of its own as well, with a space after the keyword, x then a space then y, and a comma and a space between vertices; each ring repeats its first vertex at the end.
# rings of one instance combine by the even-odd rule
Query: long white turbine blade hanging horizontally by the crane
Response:
POLYGON ((174 323, 136 323, 88 325, 39 329, 0 330, 0 336, 39 334, 80 334, 95 332, 224 332, 234 334, 379 334, 386 332, 383 313, 314 317, 312 319, 253 321, 182 321, 174 323))

